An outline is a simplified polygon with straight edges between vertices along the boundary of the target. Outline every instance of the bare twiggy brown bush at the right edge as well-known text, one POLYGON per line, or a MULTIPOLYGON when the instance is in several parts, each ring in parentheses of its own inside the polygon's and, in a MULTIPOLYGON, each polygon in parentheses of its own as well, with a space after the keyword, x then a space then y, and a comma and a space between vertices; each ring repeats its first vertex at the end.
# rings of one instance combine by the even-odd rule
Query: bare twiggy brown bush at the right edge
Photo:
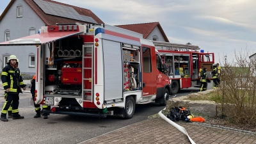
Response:
POLYGON ((256 124, 256 69, 255 59, 247 49, 235 52, 236 61, 223 63, 218 86, 223 115, 236 124, 256 124), (232 108, 231 108, 232 107, 232 108))

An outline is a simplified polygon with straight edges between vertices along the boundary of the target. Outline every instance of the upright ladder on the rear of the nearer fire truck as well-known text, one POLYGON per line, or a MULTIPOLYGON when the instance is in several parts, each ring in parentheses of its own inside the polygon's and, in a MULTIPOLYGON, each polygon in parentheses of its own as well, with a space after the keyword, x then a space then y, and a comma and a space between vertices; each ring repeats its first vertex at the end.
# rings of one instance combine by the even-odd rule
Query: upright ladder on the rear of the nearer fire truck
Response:
POLYGON ((88 102, 93 102, 93 65, 93 43, 84 42, 82 99, 88 102))

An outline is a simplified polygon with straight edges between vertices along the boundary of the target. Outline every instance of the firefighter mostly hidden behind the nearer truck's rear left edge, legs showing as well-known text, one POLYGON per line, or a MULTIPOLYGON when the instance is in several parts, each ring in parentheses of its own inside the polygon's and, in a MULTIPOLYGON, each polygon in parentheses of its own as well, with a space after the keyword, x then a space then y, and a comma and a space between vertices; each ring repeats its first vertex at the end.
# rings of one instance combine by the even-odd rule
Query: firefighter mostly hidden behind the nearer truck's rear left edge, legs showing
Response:
MULTIPOLYGON (((32 99, 34 100, 35 99, 35 90, 36 90, 36 75, 33 76, 33 79, 31 80, 31 89, 30 89, 30 92, 32 94, 32 99)), ((41 109, 40 109, 40 104, 35 104, 35 101, 34 101, 34 106, 35 106, 35 111, 36 111, 36 115, 34 116, 34 118, 39 118, 41 117, 41 109)), ((47 105, 43 105, 42 106, 43 109, 49 109, 51 108, 50 106, 47 106, 47 105)), ((44 113, 44 119, 47 119, 48 118, 48 114, 47 113, 44 113)))

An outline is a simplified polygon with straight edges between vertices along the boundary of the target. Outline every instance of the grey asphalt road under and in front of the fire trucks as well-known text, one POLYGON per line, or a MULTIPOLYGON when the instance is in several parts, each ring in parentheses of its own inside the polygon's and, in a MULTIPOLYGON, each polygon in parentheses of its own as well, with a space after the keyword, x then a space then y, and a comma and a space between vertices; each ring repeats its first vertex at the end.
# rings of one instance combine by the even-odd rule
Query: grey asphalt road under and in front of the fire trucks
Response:
MULTIPOLYGON (((211 84, 209 84, 211 88, 211 84)), ((198 88, 180 90, 176 95, 198 92, 198 88)), ((0 108, 3 107, 3 90, 0 90, 0 108)), ((172 99, 172 98, 171 98, 172 99)), ((163 109, 154 102, 136 105, 134 116, 129 120, 122 118, 90 118, 83 116, 50 115, 49 119, 33 118, 35 110, 30 93, 20 94, 21 115, 23 120, 0 122, 0 143, 79 143, 106 132, 146 120, 163 109)))

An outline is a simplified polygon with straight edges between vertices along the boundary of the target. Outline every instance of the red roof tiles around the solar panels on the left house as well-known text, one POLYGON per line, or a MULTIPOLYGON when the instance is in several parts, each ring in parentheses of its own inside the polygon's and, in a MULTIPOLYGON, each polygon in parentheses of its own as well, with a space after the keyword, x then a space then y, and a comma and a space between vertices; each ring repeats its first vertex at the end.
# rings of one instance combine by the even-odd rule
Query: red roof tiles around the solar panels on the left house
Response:
MULTIPOLYGON (((4 12, 0 16, 0 21, 3 19, 4 15, 11 8, 14 1, 15 0, 11 0, 10 3, 8 4, 8 6, 6 6, 4 12)), ((68 19, 68 18, 64 18, 64 17, 58 17, 55 15, 46 14, 33 0, 24 0, 24 1, 31 7, 31 9, 36 13, 36 15, 38 15, 38 17, 40 17, 40 19, 43 20, 43 22, 45 23, 46 26, 54 26, 54 25, 56 25, 56 23, 75 23, 75 22, 90 24, 90 22, 84 22, 84 21, 79 21, 79 20, 75 20, 75 19, 68 19)), ((59 3, 59 2, 51 1, 51 0, 44 0, 44 1, 48 1, 50 3, 61 4, 63 6, 70 6, 70 7, 74 8, 74 10, 76 10, 76 12, 79 13, 80 15, 92 17, 98 24, 104 23, 104 22, 102 22, 102 20, 99 19, 99 17, 97 17, 97 15, 95 15, 91 10, 88 10, 86 8, 79 8, 77 6, 72 6, 69 4, 59 3)))

